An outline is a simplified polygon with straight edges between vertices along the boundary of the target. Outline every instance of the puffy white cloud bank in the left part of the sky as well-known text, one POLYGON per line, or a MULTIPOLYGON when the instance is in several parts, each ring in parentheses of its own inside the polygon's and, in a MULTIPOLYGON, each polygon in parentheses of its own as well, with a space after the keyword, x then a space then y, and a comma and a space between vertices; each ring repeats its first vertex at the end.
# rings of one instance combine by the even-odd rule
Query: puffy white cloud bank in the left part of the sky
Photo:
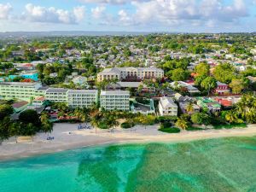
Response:
POLYGON ((22 18, 32 22, 76 24, 84 19, 84 12, 84 6, 76 7, 73 11, 67 11, 54 7, 35 6, 29 3, 26 4, 26 12, 22 14, 22 18))

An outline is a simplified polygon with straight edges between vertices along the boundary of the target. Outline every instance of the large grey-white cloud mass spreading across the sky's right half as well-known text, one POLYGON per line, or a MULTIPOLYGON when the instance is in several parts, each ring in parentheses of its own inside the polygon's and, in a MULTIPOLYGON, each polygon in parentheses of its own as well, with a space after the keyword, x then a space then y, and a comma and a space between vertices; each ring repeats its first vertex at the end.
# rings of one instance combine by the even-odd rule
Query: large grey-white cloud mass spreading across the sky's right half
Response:
POLYGON ((119 20, 128 23, 133 20, 131 25, 204 23, 213 26, 220 22, 236 22, 248 15, 247 4, 243 0, 234 0, 230 5, 225 5, 221 0, 150 0, 132 1, 131 4, 135 6, 136 14, 119 14, 119 20))

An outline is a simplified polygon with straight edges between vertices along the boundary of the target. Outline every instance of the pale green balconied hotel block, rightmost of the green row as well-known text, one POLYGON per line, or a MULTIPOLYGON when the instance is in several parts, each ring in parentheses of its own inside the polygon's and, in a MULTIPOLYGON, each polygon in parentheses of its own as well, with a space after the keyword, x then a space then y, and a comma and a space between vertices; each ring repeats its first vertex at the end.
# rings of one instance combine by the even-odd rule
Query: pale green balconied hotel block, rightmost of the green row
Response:
POLYGON ((101 108, 106 110, 130 110, 130 92, 127 90, 103 90, 100 96, 101 108))

